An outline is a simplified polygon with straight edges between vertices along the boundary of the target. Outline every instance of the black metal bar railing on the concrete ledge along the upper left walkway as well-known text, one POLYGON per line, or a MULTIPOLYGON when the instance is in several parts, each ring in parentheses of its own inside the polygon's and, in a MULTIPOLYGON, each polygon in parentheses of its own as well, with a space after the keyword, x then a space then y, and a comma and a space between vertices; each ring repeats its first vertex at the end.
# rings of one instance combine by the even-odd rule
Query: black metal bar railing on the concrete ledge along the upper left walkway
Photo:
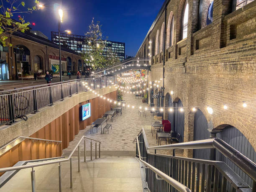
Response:
POLYGON ((0 125, 11 124, 17 118, 36 113, 73 94, 99 89, 116 83, 116 77, 76 79, 72 81, 41 84, 0 92, 0 125))

